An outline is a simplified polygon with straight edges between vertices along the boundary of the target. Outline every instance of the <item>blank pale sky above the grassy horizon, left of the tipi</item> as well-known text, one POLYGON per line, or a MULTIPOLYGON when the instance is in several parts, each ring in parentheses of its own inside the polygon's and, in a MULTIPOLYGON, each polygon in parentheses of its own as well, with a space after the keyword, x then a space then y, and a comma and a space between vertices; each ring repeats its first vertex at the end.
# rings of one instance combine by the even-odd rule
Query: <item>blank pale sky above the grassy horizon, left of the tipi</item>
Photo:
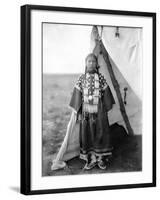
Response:
POLYGON ((92 26, 43 24, 43 73, 82 73, 92 26))

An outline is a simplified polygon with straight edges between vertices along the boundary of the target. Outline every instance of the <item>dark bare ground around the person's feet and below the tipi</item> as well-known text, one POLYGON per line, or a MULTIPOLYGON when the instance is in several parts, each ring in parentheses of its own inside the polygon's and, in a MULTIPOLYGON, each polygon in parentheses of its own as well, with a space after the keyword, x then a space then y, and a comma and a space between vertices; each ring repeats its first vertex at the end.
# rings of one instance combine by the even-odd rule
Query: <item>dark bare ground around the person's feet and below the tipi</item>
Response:
MULTIPOLYGON (((117 148, 109 160, 106 170, 101 170, 96 166, 91 170, 83 170, 85 162, 79 157, 67 162, 64 169, 51 171, 51 157, 44 161, 43 176, 74 175, 74 174, 96 174, 133 172, 142 170, 142 138, 141 136, 128 136, 117 148)), ((52 157, 53 158, 53 157, 52 157)))

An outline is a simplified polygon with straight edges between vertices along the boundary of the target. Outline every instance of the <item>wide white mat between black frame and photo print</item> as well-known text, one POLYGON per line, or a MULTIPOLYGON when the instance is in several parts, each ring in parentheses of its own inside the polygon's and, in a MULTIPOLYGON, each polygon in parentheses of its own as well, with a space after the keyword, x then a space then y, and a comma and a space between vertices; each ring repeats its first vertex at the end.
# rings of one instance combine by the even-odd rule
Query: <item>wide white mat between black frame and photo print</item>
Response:
POLYGON ((152 182, 152 18, 52 11, 31 12, 31 189, 46 190, 152 182), (41 23, 117 25, 143 28, 142 172, 42 177, 41 23))

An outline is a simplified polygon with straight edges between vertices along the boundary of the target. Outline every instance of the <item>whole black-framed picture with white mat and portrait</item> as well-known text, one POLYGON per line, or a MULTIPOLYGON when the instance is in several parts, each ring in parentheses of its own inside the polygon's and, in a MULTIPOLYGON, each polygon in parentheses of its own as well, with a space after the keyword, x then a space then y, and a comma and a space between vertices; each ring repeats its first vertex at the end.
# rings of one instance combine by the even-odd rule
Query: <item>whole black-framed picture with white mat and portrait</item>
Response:
POLYGON ((156 186, 155 68, 155 13, 22 6, 21 193, 156 186))

